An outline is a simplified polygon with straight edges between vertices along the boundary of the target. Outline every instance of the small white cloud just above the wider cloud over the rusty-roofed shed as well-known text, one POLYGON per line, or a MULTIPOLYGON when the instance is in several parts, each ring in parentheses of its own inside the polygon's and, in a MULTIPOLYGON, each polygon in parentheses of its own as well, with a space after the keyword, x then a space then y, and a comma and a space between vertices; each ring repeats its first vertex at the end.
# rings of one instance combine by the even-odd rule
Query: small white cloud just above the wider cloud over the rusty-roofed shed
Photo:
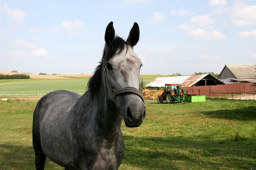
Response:
POLYGON ((207 27, 214 24, 215 20, 210 18, 209 15, 204 14, 204 15, 197 15, 197 16, 190 17, 190 22, 195 23, 199 27, 207 27))

